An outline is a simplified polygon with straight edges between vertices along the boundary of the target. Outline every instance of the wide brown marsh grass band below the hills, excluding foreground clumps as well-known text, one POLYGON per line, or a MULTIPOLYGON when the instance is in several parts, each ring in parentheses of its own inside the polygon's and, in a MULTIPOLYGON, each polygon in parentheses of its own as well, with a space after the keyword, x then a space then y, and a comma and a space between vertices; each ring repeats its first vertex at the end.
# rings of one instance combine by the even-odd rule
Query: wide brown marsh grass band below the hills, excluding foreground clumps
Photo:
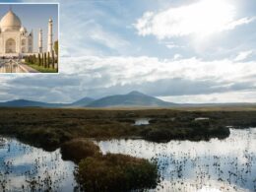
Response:
POLYGON ((228 137, 225 126, 256 126, 256 111, 171 109, 0 108, 0 134, 13 135, 47 151, 75 138, 144 138, 154 142, 228 137), (206 121, 195 121, 197 117, 206 121), (149 125, 134 126, 137 118, 149 125))

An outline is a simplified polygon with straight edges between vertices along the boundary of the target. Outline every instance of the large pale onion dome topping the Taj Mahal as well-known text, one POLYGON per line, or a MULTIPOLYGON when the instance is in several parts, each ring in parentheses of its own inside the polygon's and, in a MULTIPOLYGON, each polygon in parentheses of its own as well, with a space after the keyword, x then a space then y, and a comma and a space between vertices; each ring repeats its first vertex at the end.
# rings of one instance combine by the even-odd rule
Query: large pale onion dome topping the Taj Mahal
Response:
POLYGON ((22 22, 13 11, 9 11, 1 20, 0 27, 2 32, 20 31, 22 22))

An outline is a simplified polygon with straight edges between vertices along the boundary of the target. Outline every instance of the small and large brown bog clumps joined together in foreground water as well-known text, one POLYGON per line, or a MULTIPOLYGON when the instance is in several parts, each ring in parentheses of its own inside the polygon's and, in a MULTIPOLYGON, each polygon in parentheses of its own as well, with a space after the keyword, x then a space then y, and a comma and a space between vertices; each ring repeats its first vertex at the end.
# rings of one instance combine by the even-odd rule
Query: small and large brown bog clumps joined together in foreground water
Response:
POLYGON ((73 139, 61 146, 64 160, 78 163, 76 180, 82 191, 119 192, 155 188, 159 181, 155 161, 120 154, 102 155, 87 139, 73 139))

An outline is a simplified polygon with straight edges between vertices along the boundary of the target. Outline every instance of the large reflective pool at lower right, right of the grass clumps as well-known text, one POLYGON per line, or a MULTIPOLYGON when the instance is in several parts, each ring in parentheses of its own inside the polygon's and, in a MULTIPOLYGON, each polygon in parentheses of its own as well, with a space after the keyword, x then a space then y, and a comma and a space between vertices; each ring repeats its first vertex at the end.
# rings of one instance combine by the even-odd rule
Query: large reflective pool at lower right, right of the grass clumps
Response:
POLYGON ((255 128, 231 129, 223 141, 111 140, 98 145, 103 153, 158 160, 158 191, 256 191, 255 128))

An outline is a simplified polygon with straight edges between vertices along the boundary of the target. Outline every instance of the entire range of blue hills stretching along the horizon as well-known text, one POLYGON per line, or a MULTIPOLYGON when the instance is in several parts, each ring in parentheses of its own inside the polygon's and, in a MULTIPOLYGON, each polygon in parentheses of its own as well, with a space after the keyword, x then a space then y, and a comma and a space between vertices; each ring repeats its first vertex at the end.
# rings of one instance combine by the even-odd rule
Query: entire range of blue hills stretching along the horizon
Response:
POLYGON ((0 107, 230 107, 255 106, 256 103, 173 103, 163 101, 154 96, 147 96, 140 92, 131 92, 127 95, 105 96, 99 99, 84 97, 71 103, 48 103, 27 99, 16 99, 0 102, 0 107))

